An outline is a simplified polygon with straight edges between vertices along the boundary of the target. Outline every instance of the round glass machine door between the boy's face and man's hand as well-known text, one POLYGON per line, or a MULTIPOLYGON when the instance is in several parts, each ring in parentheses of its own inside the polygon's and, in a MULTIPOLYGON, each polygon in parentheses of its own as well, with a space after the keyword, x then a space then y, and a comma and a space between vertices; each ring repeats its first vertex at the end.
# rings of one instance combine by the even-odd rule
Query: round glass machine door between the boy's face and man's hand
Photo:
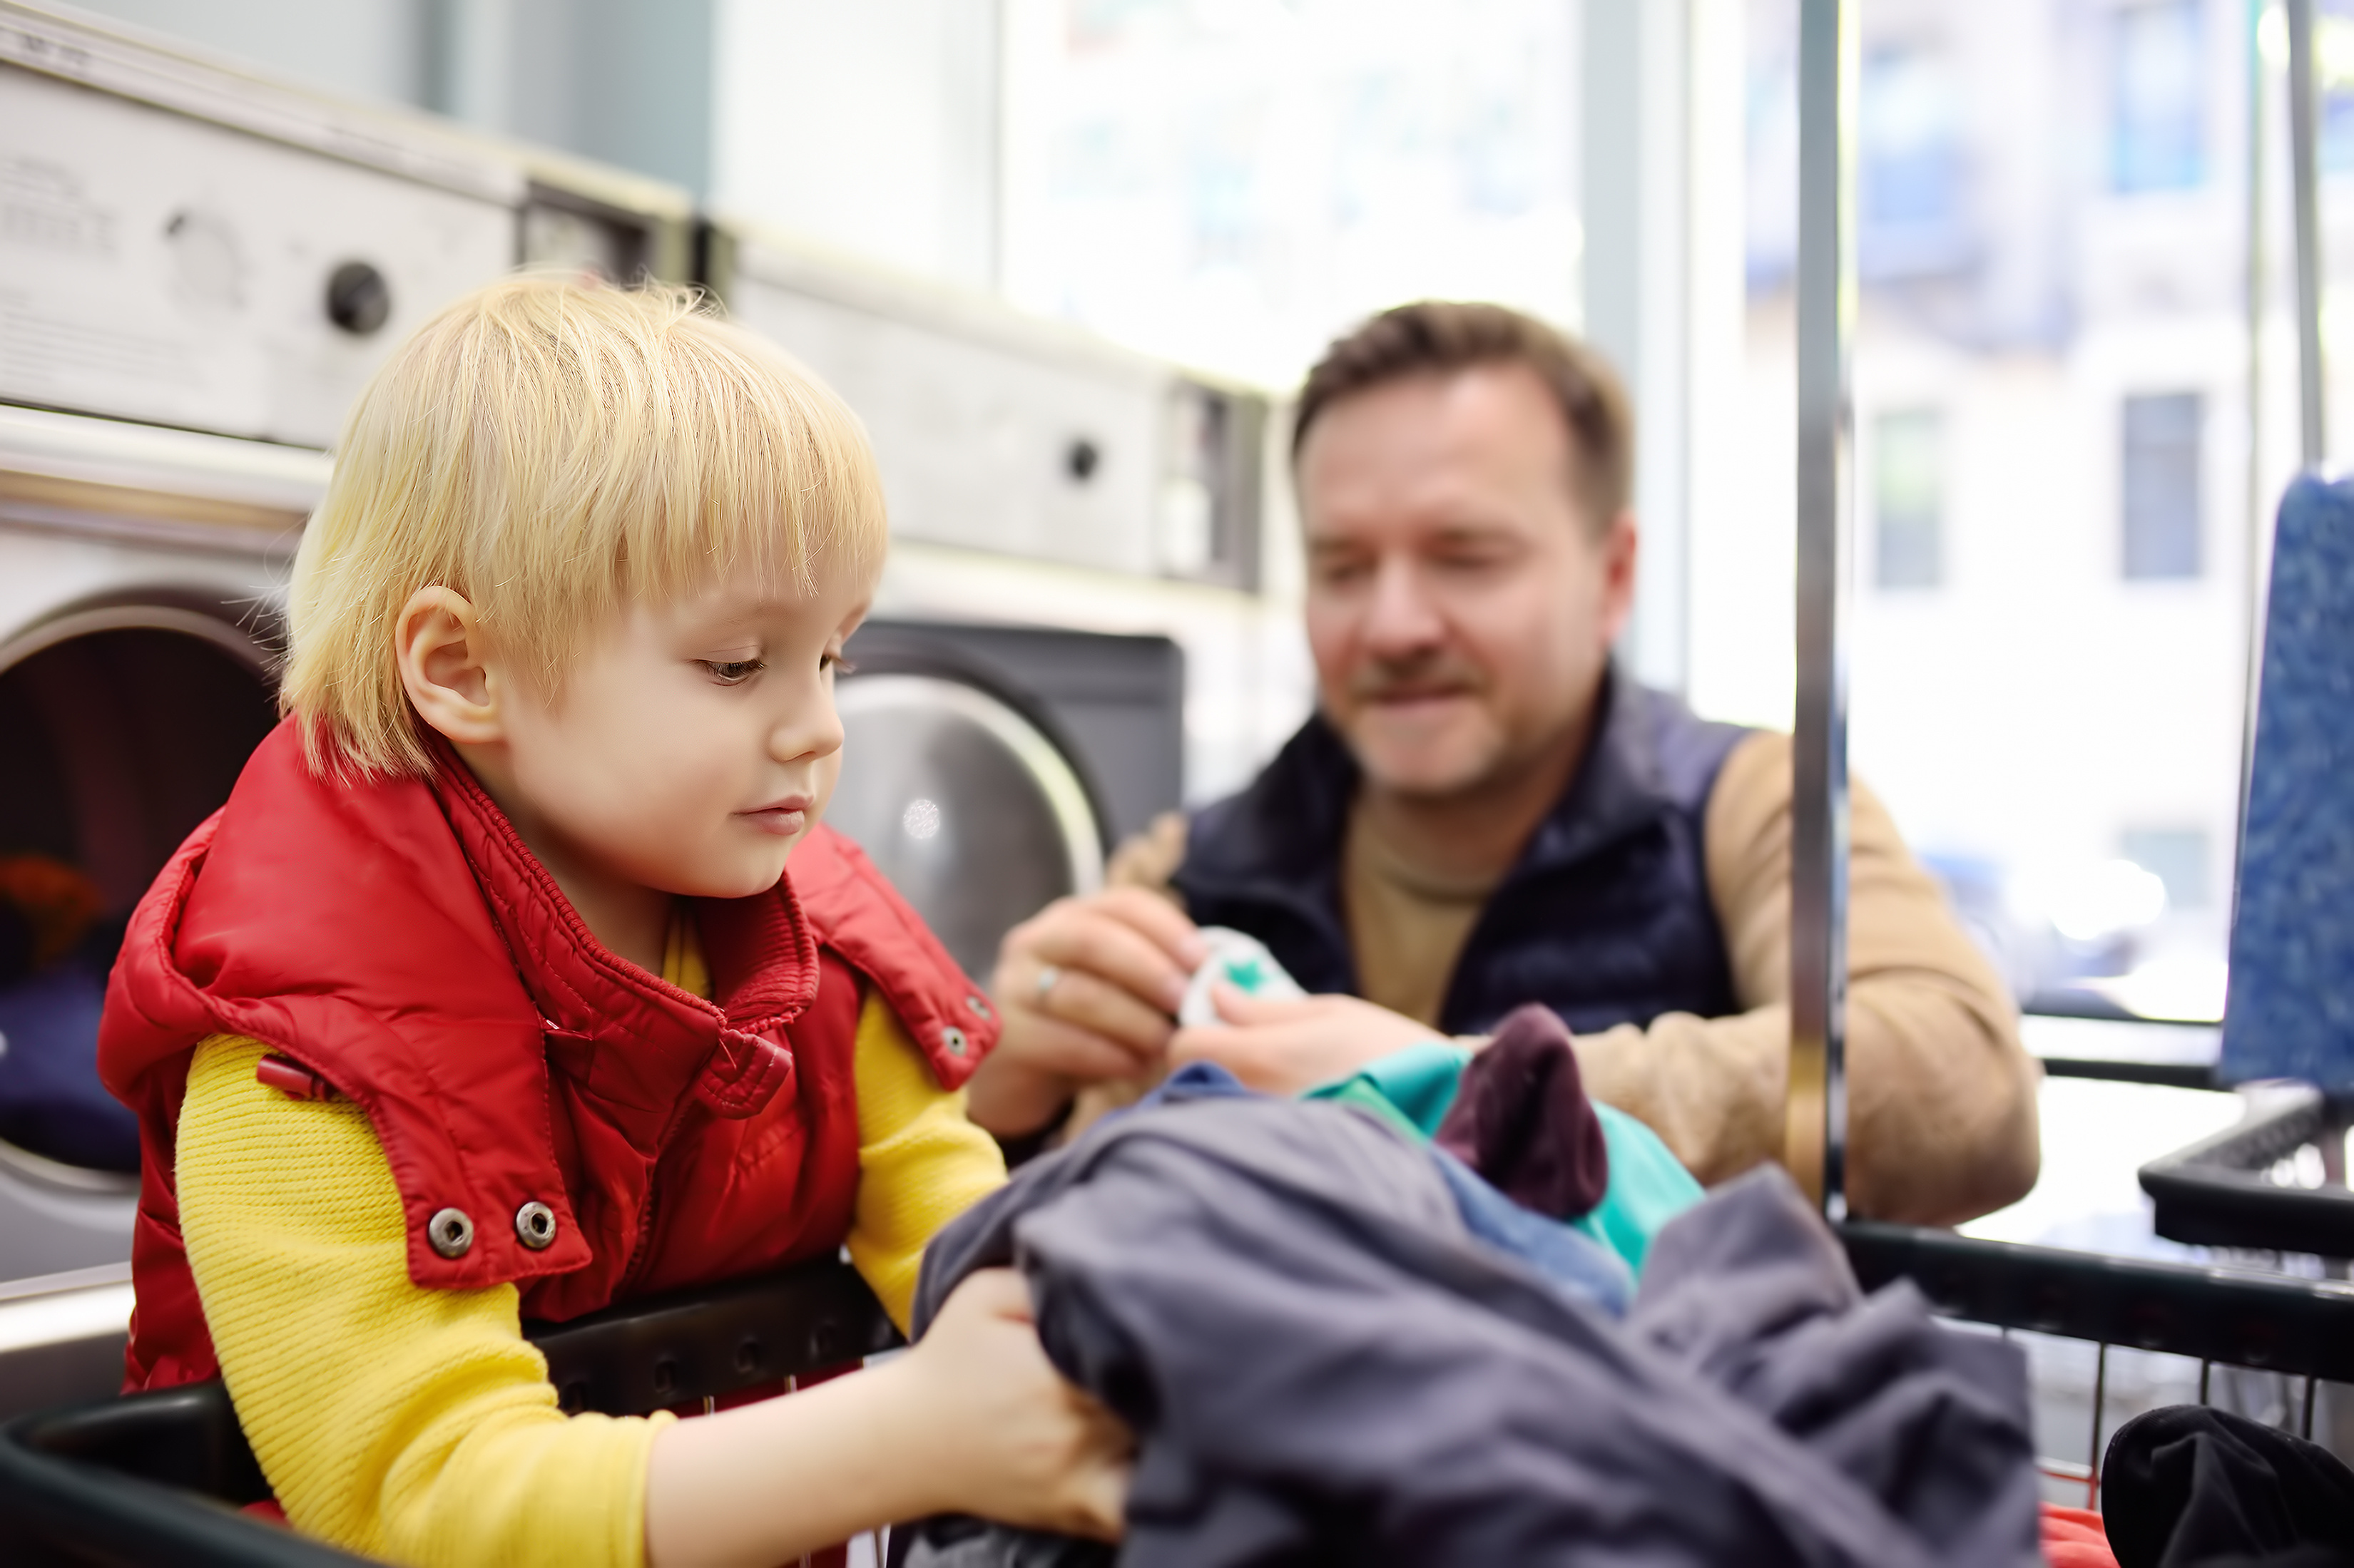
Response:
POLYGON ((1012 702, 946 676, 840 683, 843 777, 826 822, 873 857, 967 975, 1050 902, 1104 883, 1078 770, 1012 702))

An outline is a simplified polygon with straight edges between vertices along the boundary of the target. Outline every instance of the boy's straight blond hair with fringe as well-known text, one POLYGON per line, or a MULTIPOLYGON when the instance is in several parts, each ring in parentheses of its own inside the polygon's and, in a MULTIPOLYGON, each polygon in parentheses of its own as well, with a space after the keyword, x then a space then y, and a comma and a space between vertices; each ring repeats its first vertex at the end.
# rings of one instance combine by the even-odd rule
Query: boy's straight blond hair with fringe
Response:
POLYGON ((464 593, 551 699, 579 638, 716 577, 883 560, 857 417, 690 290, 516 275, 360 393, 304 530, 278 702, 318 772, 431 772, 393 652, 417 589, 464 593))

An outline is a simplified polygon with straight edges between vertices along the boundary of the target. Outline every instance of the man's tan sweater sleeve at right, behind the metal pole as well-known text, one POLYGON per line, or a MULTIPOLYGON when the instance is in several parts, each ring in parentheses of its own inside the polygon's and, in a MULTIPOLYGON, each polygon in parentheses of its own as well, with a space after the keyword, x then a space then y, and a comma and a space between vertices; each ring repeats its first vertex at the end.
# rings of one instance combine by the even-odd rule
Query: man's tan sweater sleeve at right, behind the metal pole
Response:
MULTIPOLYGON (((1801 1175, 1822 1165, 1784 1111, 1789 798, 1789 737, 1754 735, 1725 758, 1702 829, 1744 1012, 1671 1012, 1577 1041, 1594 1097, 1645 1121, 1702 1182, 1770 1158, 1801 1175)), ((2039 1069, 2003 982, 1862 784, 1848 843, 1850 1201, 1881 1220, 1954 1224, 2034 1187, 2039 1069)))

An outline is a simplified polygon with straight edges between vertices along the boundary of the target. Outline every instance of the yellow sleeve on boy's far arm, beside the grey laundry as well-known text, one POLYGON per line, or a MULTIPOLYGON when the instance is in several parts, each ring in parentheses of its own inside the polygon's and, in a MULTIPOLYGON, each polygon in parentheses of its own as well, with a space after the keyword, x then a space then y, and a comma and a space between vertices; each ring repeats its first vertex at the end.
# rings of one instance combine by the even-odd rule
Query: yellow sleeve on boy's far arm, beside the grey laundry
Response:
POLYGON ((998 1142, 965 1121, 965 1095, 932 1078, 880 994, 859 1010, 859 1201, 850 1262, 906 1333, 923 1248, 1005 1184, 998 1142))

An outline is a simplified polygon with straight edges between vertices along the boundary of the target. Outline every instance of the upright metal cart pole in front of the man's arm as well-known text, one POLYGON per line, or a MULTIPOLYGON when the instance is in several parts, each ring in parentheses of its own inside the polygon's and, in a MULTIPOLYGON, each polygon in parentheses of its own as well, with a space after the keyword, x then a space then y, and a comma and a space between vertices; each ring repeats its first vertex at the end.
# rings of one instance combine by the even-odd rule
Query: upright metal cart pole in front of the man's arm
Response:
POLYGON ((1798 9, 1798 725, 1789 833, 1784 1151, 1848 1212, 1848 341, 1855 325, 1855 0, 1798 9))

